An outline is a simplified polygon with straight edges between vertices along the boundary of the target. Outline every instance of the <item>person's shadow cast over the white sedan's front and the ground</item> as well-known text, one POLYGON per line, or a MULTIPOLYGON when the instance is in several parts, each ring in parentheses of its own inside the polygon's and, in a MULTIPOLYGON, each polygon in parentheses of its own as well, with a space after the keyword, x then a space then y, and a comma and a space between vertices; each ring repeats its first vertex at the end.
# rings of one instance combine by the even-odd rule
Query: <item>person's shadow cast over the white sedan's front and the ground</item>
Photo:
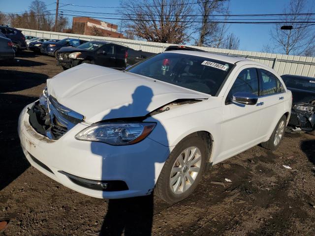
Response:
MULTIPOLYGON (((153 91, 146 86, 138 86, 132 94, 132 102, 128 105, 122 106, 118 109, 112 109, 102 120, 111 118, 120 118, 121 116, 135 117, 136 114, 148 114, 148 106, 153 98, 153 91)), ((150 119, 150 122, 156 122, 156 128, 159 126, 160 137, 168 144, 166 131, 162 124, 154 119, 150 119)), ((152 141, 155 142, 155 141, 152 141)), ((149 144, 151 142, 149 141, 149 144)), ((108 177, 115 176, 115 173, 128 172, 130 179, 126 180, 126 183, 133 184, 133 191, 135 189, 145 189, 147 196, 134 197, 127 199, 110 199, 108 202, 108 211, 104 217, 104 221, 99 232, 100 236, 149 236, 152 231, 153 221, 153 208, 154 197, 152 192, 156 182, 156 165, 165 161, 164 153, 154 153, 154 147, 151 155, 143 155, 141 151, 138 153, 138 149, 132 148, 132 145, 119 148, 111 148, 115 153, 106 153, 103 151, 103 144, 92 142, 91 150, 94 154, 102 157, 102 180, 106 180, 108 177), (120 155, 120 151, 122 154, 120 155), (126 151, 127 150, 127 151, 126 151), (126 156, 127 153, 133 153, 126 156), (125 153, 125 154, 124 154, 125 153), (111 162, 110 159, 115 158, 115 162, 111 162), (106 161, 106 160, 109 160, 106 161), (111 164, 109 164, 111 163, 111 164), (132 171, 132 173, 131 173, 132 171)), ((137 144, 135 144, 137 145, 137 144)), ((158 144, 160 145, 160 144, 158 144)), ((108 145, 107 145, 108 146, 108 145)), ((105 148, 107 147, 104 146, 105 148)), ((167 145, 166 145, 167 146, 167 145)), ((137 146, 142 148, 143 151, 147 151, 147 147, 137 146)), ((109 149, 109 148, 108 148, 109 149)), ((169 150, 165 151, 168 156, 169 150)), ((107 150, 107 148, 106 148, 107 150)), ((103 194, 106 198, 106 191, 103 194)))

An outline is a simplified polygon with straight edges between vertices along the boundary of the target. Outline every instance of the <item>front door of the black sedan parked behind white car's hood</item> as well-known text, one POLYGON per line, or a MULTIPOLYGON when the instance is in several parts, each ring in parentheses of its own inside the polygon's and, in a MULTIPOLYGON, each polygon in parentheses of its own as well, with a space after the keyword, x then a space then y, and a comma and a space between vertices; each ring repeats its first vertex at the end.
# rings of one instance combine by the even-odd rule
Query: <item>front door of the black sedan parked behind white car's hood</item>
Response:
POLYGON ((113 44, 105 44, 97 50, 95 64, 106 67, 116 66, 116 57, 113 44))

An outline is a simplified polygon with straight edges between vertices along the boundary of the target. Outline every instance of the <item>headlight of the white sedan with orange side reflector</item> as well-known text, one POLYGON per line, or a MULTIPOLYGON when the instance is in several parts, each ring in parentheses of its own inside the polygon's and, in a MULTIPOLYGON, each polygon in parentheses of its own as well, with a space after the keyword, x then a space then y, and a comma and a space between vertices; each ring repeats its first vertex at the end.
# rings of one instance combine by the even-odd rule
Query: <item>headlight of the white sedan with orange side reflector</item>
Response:
POLYGON ((149 122, 98 123, 85 128, 75 138, 116 146, 135 144, 147 137, 155 126, 156 123, 149 122))

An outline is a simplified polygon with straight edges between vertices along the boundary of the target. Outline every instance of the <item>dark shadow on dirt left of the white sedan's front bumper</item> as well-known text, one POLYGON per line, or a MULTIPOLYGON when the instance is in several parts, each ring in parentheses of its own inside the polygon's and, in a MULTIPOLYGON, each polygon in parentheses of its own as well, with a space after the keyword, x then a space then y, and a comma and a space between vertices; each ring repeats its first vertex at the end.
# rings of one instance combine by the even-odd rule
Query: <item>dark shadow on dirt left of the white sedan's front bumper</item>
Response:
POLYGON ((0 190, 19 177, 29 166, 17 133, 22 109, 36 100, 13 94, 0 94, 0 190))

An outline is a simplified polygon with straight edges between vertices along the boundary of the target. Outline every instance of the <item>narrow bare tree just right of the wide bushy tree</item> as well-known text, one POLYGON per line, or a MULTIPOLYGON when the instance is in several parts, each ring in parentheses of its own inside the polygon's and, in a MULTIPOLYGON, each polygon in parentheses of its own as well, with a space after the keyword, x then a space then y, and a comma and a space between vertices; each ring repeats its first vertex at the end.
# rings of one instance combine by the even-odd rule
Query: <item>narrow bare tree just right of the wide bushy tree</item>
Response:
POLYGON ((214 14, 228 13, 228 0, 198 0, 198 13, 202 16, 202 23, 198 27, 198 46, 220 47, 226 32, 225 25, 215 23, 214 14))

